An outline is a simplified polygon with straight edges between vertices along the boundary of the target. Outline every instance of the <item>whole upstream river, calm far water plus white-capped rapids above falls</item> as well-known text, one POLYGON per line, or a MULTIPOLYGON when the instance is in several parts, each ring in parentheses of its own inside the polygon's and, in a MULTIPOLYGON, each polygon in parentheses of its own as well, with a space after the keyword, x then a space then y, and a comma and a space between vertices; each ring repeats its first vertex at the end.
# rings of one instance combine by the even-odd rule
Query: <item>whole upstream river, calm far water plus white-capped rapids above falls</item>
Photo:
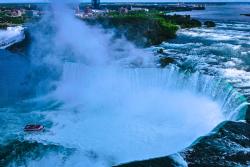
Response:
POLYGON ((184 66, 220 76, 249 98, 250 18, 240 14, 249 4, 208 5, 206 10, 177 12, 199 20, 214 20, 214 28, 182 29, 178 37, 163 43, 165 53, 184 66), (232 12, 234 11, 234 12, 232 12))

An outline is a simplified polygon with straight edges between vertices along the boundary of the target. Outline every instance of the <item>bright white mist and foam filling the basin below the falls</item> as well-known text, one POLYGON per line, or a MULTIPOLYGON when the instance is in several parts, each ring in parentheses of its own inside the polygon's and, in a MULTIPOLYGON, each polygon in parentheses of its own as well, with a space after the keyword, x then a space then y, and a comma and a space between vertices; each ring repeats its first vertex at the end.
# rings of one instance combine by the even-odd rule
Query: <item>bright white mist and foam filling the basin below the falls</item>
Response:
POLYGON ((177 152, 225 117, 195 85, 179 87, 184 78, 174 74, 67 63, 51 95, 64 104, 45 114, 53 122, 50 133, 26 139, 76 148, 65 166, 111 166, 177 152))

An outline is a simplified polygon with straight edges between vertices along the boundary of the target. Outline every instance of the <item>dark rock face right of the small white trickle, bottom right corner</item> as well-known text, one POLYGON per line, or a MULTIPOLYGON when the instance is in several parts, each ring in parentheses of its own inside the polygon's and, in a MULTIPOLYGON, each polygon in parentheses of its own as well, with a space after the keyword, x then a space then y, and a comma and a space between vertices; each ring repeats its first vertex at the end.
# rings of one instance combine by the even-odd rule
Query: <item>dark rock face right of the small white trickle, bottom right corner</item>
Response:
POLYGON ((224 122, 181 152, 189 166, 249 166, 250 125, 224 122))

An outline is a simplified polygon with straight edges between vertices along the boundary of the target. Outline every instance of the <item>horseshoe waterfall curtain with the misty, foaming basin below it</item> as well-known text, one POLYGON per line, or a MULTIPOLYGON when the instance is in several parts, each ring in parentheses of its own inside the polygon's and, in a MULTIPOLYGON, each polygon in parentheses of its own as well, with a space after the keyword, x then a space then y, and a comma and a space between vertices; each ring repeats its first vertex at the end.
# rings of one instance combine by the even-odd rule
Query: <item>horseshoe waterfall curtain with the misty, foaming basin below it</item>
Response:
MULTIPOLYGON (((8 132, 1 127, 1 142, 18 136, 42 144, 35 147, 40 158, 23 155, 21 164, 103 167, 177 152, 221 121, 238 119, 245 99, 218 77, 184 73, 176 66, 65 63, 57 89, 25 103, 2 111, 2 118, 16 123, 8 132), (50 127, 49 132, 20 134, 34 120, 50 127), (41 152, 45 146, 47 151, 41 152)), ((18 166, 15 159, 12 164, 18 166)))

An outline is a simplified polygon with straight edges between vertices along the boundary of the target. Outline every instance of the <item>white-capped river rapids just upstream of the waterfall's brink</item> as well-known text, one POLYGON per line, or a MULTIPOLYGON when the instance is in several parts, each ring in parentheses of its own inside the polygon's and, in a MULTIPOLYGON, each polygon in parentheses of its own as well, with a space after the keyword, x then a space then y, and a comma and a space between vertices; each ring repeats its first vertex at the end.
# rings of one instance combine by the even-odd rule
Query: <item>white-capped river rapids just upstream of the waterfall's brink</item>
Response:
POLYGON ((250 83, 249 23, 217 23, 216 28, 185 29, 176 40, 163 43, 168 56, 195 71, 224 77, 248 96, 250 83), (194 41, 194 42, 190 42, 194 41))

